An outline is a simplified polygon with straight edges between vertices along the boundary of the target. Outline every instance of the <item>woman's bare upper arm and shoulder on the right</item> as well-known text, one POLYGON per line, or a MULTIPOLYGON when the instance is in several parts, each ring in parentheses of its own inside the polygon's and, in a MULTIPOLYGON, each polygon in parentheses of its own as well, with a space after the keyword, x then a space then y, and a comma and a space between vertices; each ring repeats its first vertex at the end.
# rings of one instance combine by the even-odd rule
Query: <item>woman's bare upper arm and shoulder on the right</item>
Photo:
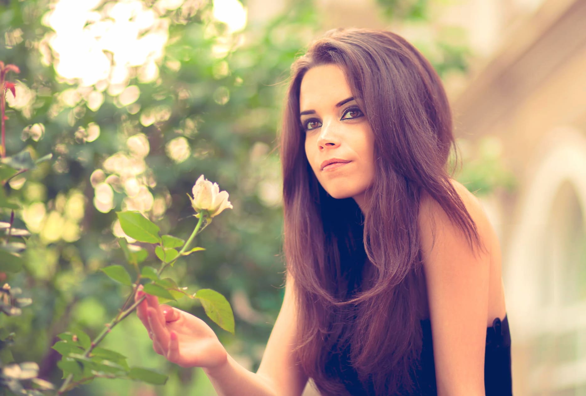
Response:
POLYGON ((454 182, 486 252, 469 247, 440 204, 425 199, 419 227, 438 396, 483 396, 490 250, 493 235, 478 200, 454 182), (434 233, 435 227, 435 233, 434 233))

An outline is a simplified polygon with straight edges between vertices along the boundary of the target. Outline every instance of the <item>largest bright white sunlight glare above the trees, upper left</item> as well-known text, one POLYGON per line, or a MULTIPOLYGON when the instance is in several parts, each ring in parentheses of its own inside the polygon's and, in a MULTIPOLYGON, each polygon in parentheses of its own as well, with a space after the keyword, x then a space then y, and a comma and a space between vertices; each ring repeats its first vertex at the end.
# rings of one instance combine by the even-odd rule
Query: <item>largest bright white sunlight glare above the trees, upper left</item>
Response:
POLYGON ((43 22, 55 32, 46 36, 57 58, 55 70, 81 86, 101 80, 126 85, 129 67, 161 60, 169 21, 139 0, 108 3, 100 12, 93 11, 100 3, 57 0, 47 12, 43 22))

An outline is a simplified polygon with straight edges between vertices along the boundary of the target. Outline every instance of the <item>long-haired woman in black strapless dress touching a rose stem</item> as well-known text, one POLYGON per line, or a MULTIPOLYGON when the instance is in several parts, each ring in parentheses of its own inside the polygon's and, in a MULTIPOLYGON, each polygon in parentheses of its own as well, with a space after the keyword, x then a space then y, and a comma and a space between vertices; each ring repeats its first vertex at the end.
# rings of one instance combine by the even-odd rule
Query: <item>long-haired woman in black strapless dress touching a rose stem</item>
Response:
MULTIPOLYGON (((292 66, 281 161, 285 298, 257 373, 147 296, 154 349, 220 395, 511 394, 498 239, 447 173, 437 73, 390 32, 335 30, 292 66)), ((142 292, 138 292, 140 297, 142 292)))

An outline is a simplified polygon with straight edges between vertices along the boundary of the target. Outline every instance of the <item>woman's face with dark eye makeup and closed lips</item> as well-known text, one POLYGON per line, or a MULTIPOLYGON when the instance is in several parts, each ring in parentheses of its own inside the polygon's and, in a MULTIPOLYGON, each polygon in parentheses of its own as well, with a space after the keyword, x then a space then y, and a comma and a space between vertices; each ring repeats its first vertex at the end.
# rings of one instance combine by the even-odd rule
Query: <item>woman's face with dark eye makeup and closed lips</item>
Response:
POLYGON ((306 72, 299 110, 309 165, 326 192, 336 199, 352 197, 364 211, 364 190, 374 179, 374 136, 362 109, 339 66, 306 72), (332 159, 338 163, 325 166, 332 159))

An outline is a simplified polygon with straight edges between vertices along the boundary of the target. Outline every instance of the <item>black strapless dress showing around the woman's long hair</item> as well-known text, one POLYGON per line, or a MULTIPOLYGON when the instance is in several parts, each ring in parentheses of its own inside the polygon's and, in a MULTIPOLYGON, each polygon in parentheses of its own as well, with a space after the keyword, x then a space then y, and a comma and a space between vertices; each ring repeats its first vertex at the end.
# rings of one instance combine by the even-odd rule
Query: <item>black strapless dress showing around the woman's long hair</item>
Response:
MULTIPOLYGON (((421 349, 420 367, 414 373, 418 390, 408 396, 437 396, 435 384, 435 364, 433 342, 431 338, 431 322, 421 320, 423 347, 421 349)), ((484 361, 484 384, 486 396, 512 396, 511 357, 510 357, 509 320, 505 315, 493 321, 486 329, 486 347, 484 361)), ((371 384, 363 384, 358 380, 356 370, 349 365, 349 349, 345 348, 338 354, 332 354, 326 371, 333 377, 340 378, 346 388, 346 395, 371 396, 374 390, 371 384)), ((387 396, 387 395, 386 395, 387 396)), ((406 396, 406 395, 388 395, 406 396)))

